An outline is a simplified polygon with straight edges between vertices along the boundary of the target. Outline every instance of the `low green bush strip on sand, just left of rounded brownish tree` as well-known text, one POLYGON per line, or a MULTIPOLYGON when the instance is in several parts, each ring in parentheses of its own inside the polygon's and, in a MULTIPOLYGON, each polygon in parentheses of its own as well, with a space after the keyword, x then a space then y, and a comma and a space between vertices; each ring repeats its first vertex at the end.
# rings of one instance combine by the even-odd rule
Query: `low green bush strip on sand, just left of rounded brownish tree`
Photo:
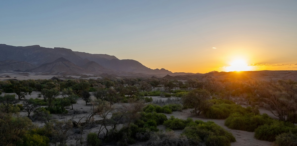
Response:
POLYGON ((183 106, 181 104, 167 104, 162 107, 155 104, 148 104, 143 108, 143 111, 171 114, 174 111, 181 111, 182 109, 183 106))

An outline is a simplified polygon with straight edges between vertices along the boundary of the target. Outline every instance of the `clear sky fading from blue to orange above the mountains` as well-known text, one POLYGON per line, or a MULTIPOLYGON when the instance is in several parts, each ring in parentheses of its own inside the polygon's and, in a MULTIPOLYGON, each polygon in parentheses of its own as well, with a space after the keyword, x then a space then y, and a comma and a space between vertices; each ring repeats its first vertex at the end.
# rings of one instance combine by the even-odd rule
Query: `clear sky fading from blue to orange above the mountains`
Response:
POLYGON ((0 43, 133 59, 151 69, 297 70, 297 1, 1 1, 0 43))

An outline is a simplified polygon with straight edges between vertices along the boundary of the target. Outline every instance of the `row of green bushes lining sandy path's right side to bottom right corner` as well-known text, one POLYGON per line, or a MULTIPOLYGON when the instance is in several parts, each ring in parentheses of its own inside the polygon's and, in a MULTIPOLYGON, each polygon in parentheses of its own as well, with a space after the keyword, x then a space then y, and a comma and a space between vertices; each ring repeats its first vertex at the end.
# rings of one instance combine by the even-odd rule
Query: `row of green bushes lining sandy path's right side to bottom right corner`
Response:
POLYGON ((233 113, 226 120, 228 128, 254 132, 255 138, 273 142, 279 146, 297 145, 297 127, 290 122, 274 120, 267 114, 233 113))

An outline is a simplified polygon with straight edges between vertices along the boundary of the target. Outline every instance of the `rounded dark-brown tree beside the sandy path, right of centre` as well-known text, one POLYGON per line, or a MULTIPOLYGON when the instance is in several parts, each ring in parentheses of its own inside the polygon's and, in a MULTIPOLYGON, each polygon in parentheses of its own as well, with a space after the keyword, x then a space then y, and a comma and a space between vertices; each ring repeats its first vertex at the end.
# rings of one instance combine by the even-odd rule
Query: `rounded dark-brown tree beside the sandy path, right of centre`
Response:
POLYGON ((210 97, 210 92, 204 89, 191 90, 182 99, 185 106, 194 107, 193 113, 199 116, 200 112, 205 110, 209 105, 207 100, 210 97), (197 111, 199 112, 197 113, 197 111))

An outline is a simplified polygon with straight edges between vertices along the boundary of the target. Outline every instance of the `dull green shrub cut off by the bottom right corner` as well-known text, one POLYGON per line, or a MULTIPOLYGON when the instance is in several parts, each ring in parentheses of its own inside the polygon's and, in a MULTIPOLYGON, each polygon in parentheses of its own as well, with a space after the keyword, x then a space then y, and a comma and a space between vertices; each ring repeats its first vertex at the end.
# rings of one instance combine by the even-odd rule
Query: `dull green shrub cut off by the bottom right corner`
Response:
POLYGON ((275 138, 275 144, 277 146, 297 146, 297 134, 292 132, 279 134, 275 138))

